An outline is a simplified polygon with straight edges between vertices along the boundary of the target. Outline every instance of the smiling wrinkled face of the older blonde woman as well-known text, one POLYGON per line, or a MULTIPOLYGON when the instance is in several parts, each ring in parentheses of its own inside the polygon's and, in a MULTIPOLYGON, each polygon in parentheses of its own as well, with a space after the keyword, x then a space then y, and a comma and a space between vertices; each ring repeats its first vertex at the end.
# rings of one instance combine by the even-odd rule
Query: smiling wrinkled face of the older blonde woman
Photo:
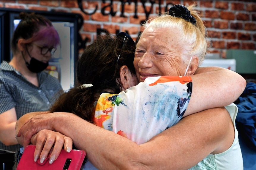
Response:
POLYGON ((184 75, 187 65, 181 61, 183 44, 176 41, 178 36, 178 31, 164 28, 148 28, 142 33, 134 58, 140 82, 144 82, 147 77, 184 75))

